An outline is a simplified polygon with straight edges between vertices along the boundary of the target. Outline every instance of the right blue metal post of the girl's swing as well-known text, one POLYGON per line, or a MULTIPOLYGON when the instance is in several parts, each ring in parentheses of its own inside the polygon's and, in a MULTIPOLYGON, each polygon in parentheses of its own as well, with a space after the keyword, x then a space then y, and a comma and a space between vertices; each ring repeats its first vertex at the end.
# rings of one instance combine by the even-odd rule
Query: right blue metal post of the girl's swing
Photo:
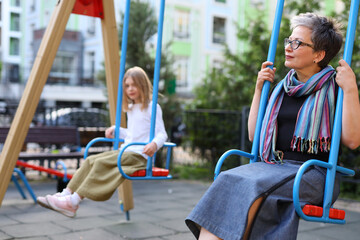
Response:
MULTIPOLYGON (((150 125, 150 139, 151 142, 155 135, 155 121, 156 121, 156 106, 158 102, 159 92, 159 78, 160 78, 160 66, 161 66, 161 46, 162 46, 162 34, 163 34, 163 23, 164 23, 164 12, 165 12, 165 0, 161 0, 160 13, 158 22, 158 36, 156 45, 156 57, 155 57, 155 70, 154 70, 154 84, 153 84, 153 96, 152 96, 152 114, 151 114, 151 125, 150 125)), ((146 176, 152 176, 152 161, 148 160, 146 166, 146 176)))

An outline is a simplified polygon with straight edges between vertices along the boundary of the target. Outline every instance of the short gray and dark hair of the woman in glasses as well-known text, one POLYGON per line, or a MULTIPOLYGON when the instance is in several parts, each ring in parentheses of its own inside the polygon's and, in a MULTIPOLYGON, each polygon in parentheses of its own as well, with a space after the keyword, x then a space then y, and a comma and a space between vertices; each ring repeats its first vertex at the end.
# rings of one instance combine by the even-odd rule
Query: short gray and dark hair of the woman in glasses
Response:
POLYGON ((334 19, 318 16, 314 13, 301 13, 291 19, 291 29, 303 26, 311 29, 311 41, 314 51, 325 51, 325 57, 318 65, 326 67, 340 51, 343 37, 341 26, 334 19))

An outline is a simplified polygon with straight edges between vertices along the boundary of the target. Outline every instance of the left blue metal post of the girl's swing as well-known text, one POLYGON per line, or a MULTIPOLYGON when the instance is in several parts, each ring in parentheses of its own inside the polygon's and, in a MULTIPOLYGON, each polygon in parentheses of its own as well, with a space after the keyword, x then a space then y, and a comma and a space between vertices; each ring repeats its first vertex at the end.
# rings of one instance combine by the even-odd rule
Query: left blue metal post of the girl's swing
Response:
POLYGON ((118 82, 118 95, 116 102, 116 119, 115 119, 115 141, 114 150, 119 149, 120 139, 120 126, 121 126, 121 109, 122 109, 122 98, 123 98, 123 78, 125 74, 125 63, 126 63, 126 51, 127 51, 127 39, 129 30, 129 18, 130 18, 130 0, 126 1, 124 24, 123 24, 123 35, 121 43, 121 59, 120 59, 120 74, 118 82))

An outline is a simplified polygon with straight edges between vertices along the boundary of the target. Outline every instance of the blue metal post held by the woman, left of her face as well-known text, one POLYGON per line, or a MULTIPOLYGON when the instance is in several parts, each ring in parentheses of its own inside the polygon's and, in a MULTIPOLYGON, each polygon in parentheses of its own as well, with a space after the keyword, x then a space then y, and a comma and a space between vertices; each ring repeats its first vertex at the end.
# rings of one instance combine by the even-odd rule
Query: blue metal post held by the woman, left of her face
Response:
MULTIPOLYGON (((284 2, 285 0, 278 0, 276 11, 275 11, 275 19, 273 24, 273 29, 271 33, 271 39, 270 39, 270 46, 269 46, 269 52, 267 61, 270 61, 274 63, 275 61, 275 54, 276 54, 276 45, 279 38, 279 32, 280 32, 280 23, 281 23, 281 17, 284 9, 284 2)), ((269 66, 271 69, 273 66, 269 66)), ((261 124, 262 120, 264 118, 265 109, 267 105, 267 100, 269 96, 270 91, 270 82, 265 81, 264 86, 261 91, 261 98, 260 98, 260 105, 259 105, 259 111, 258 116, 256 120, 256 127, 255 127, 255 135, 253 140, 253 145, 251 148, 251 154, 254 156, 253 159, 250 159, 250 163, 256 162, 259 155, 259 142, 260 142, 260 132, 261 132, 261 124)))

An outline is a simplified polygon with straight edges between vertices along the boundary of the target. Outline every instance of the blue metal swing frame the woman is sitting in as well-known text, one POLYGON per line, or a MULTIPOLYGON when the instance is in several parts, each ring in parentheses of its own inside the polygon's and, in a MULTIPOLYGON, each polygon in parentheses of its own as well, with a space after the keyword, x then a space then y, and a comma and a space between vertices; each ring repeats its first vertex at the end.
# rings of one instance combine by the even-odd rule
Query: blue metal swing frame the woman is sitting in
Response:
MULTIPOLYGON (((274 62, 275 60, 275 53, 276 53, 276 45, 278 42, 279 37, 279 30, 280 30, 280 23, 281 17, 283 13, 285 0, 278 0, 275 12, 275 19, 274 25, 272 29, 271 39, 270 39, 270 46, 267 61, 274 62)), ((352 0, 351 7, 350 7, 350 14, 349 14, 349 24, 347 28, 347 35, 345 40, 345 49, 344 49, 344 60, 351 65, 351 56, 353 51, 354 39, 355 39, 355 30, 356 30, 356 22, 359 10, 359 0, 352 0)), ((271 69, 273 66, 269 66, 271 69)), ((231 149, 225 152, 219 159, 216 167, 215 167, 215 179, 219 175, 221 171, 221 166, 225 159, 231 155, 238 155, 242 157, 246 157, 250 159, 250 163, 254 163, 258 160, 258 152, 259 152, 259 142, 260 142, 260 131, 261 131, 261 123, 262 119, 265 114, 265 109, 267 105, 268 95, 270 91, 270 82, 265 81, 260 98, 260 105, 259 105, 259 112, 257 116, 256 128, 255 128, 255 135, 254 141, 251 149, 251 153, 247 153, 237 149, 231 149)), ((294 180, 294 188, 293 188, 293 201, 294 207, 297 214, 306 221, 314 221, 314 222, 325 222, 325 223, 336 223, 336 224, 345 224, 345 220, 339 219, 331 219, 329 217, 331 202, 332 202, 332 195, 333 195, 333 188, 334 188, 334 181, 336 171, 349 175, 354 176, 355 171, 351 169, 347 169, 344 167, 337 166, 338 161, 338 153, 340 147, 340 139, 341 139, 341 122, 342 122, 342 103, 343 103, 343 91, 339 88, 338 91, 338 98, 337 98, 337 105, 335 111, 335 120, 334 120, 334 129, 333 129, 333 138, 330 148, 330 155, 329 161, 323 162, 320 160, 312 159, 306 161, 302 166, 299 168, 298 173, 294 180), (300 182, 301 177, 306 171, 306 169, 312 165, 317 165, 320 167, 327 168, 326 174, 326 183, 325 183, 325 191, 324 191, 324 200, 323 200, 323 214, 322 217, 310 217, 304 214, 301 208, 301 204, 299 201, 299 189, 300 189, 300 182)))

